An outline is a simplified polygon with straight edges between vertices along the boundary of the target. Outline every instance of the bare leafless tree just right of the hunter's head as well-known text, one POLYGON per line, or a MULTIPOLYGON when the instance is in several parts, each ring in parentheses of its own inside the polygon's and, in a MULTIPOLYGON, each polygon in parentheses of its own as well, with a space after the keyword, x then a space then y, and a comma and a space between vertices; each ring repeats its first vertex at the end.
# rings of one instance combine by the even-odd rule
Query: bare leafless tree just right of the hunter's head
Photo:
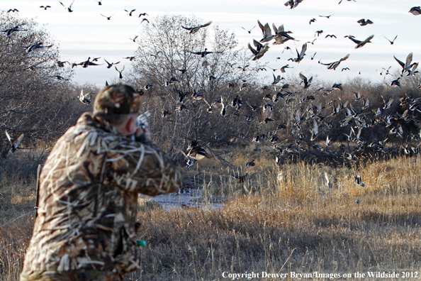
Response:
POLYGON ((196 33, 182 28, 199 25, 196 18, 164 15, 144 26, 137 40, 130 80, 145 93, 152 131, 165 132, 155 138, 169 153, 178 152, 186 136, 208 142, 231 138, 237 127, 229 124, 229 115, 221 118, 227 116, 223 106, 249 94, 257 80, 257 65, 250 66, 251 54, 237 49, 234 33, 218 26, 196 33), (169 116, 162 118, 164 111, 169 116))

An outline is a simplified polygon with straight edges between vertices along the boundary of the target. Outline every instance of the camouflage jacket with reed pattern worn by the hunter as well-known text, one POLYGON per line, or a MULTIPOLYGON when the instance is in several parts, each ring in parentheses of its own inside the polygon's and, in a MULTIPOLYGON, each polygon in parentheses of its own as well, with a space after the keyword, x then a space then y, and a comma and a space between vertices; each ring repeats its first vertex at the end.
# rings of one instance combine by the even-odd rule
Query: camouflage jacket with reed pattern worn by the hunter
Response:
POLYGON ((72 270, 123 278, 139 268, 137 193, 175 192, 180 183, 174 162, 154 145, 84 113, 57 140, 41 172, 38 217, 21 280, 72 270))

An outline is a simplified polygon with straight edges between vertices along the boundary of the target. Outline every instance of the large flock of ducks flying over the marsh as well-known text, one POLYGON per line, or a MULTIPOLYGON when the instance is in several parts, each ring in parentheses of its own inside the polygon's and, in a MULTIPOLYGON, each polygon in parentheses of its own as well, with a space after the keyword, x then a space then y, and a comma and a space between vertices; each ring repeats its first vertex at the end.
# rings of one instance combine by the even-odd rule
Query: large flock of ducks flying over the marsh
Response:
MULTIPOLYGON (((351 0, 347 0, 351 1, 351 0)), ((101 1, 97 1, 99 5, 102 5, 101 1)), ((303 0, 290 0, 285 3, 286 6, 289 6, 291 9, 295 9, 298 4, 301 4, 303 0)), ((342 0, 339 1, 339 4, 341 4, 342 0)), ((62 2, 60 2, 62 6, 64 6, 64 9, 67 9, 69 13, 71 13, 72 5, 74 4, 74 1, 72 1, 71 4, 64 5, 62 2)), ((47 10, 48 8, 51 8, 51 6, 40 6, 41 9, 47 10)), ((14 9, 16 10, 16 9, 14 9)), ((16 10, 17 11, 17 10, 16 10)), ((9 12, 15 12, 12 9, 9 10, 9 12)), ((131 10, 125 10, 125 12, 128 14, 128 16, 133 16, 133 13, 135 12, 135 9, 131 10)), ((413 15, 417 16, 420 15, 421 10, 420 7, 413 7, 409 11, 413 15)), ((106 16, 101 13, 101 16, 105 17, 108 21, 111 20, 111 17, 114 16, 115 13, 111 16, 106 16)), ((147 13, 140 13, 138 16, 141 18, 142 16, 146 16, 147 13)), ((328 16, 320 16, 325 18, 330 18, 333 15, 328 16)), ((143 21, 147 21, 146 18, 142 19, 143 21)), ((315 23, 316 19, 312 18, 309 22, 315 23)), ((149 21, 147 21, 149 22, 149 21)), ((210 26, 212 21, 209 21, 208 23, 204 23, 199 26, 181 26, 181 28, 184 28, 186 31, 188 31, 191 34, 198 33, 201 28, 206 28, 207 26, 210 26)), ((369 24, 373 24, 373 21, 365 18, 361 18, 361 20, 357 21, 361 26, 366 26, 369 24)), ((253 46, 251 44, 248 44, 249 50, 252 52, 252 60, 259 60, 261 59, 269 50, 269 42, 274 41, 274 45, 282 45, 286 43, 289 40, 296 40, 292 37, 291 34, 293 34, 291 31, 286 31, 284 29, 284 25, 276 26, 274 23, 272 26, 269 26, 269 23, 262 24, 259 20, 257 21, 257 25, 262 31, 262 38, 260 40, 253 40, 253 46), (273 31, 273 32, 272 32, 273 31)), ((246 28, 243 28, 247 33, 251 34, 252 30, 255 28, 254 26, 252 29, 247 30, 246 28)), ((6 29, 4 31, 1 31, 6 36, 11 38, 13 36, 13 33, 26 31, 22 29, 21 26, 15 26, 13 28, 6 29)), ((323 31, 316 31, 315 35, 320 36, 323 33, 323 31)), ((335 35, 326 35, 326 37, 334 37, 335 35)), ((371 43, 371 39, 374 38, 374 35, 369 36, 368 38, 364 40, 358 40, 355 38, 354 35, 346 35, 345 38, 349 38, 353 43, 355 43, 355 48, 362 48, 367 43, 371 43)), ((388 40, 391 45, 393 45, 395 39, 397 38, 397 35, 393 40, 388 40)), ((130 40, 137 39, 137 36, 135 38, 130 38, 130 40)), ((302 45, 301 50, 298 51, 296 48, 296 57, 291 57, 288 61, 291 60, 292 62, 300 63, 304 57, 305 53, 307 52, 308 44, 314 44, 313 42, 306 42, 302 45)), ((42 42, 34 43, 32 45, 25 46, 28 53, 34 52, 35 50, 42 49, 42 48, 50 48, 52 45, 43 45, 42 42)), ((291 48, 285 48, 284 50, 291 50, 291 48)), ((200 57, 206 57, 207 55, 218 53, 218 52, 212 52, 208 51, 207 48, 203 51, 196 51, 191 53, 195 55, 199 55, 200 57)), ((158 55, 158 54, 155 54, 158 55)), ((313 60, 315 54, 311 57, 311 60, 313 60)), ((335 60, 334 62, 321 62, 319 60, 318 63, 321 65, 327 66, 328 70, 336 70, 341 62, 344 62, 349 58, 349 54, 345 55, 342 58, 339 58, 338 60, 335 60)), ((418 73, 417 66, 418 62, 412 62, 412 53, 406 57, 405 62, 399 60, 397 57, 395 57, 396 62, 402 67, 402 71, 400 74, 400 77, 393 80, 391 82, 391 86, 400 87, 400 81, 399 79, 403 77, 403 75, 412 76, 416 75, 418 73)), ((57 61, 58 67, 64 67, 66 64, 70 65, 71 67, 77 67, 81 65, 82 67, 86 68, 89 66, 96 66, 96 65, 103 65, 98 63, 99 59, 101 57, 88 57, 87 60, 83 62, 68 62, 68 61, 57 61)), ((127 59, 130 61, 135 60, 135 57, 123 57, 123 59, 127 59)), ((118 72, 118 77, 120 79, 123 79, 123 70, 124 67, 122 67, 120 70, 116 65, 120 63, 118 62, 108 62, 105 58, 103 58, 104 62, 106 63, 106 67, 108 69, 111 69, 111 67, 114 66, 115 70, 118 72)), ((242 69, 245 71, 245 68, 247 66, 238 67, 239 69, 242 69)), ((279 70, 284 73, 286 72, 286 69, 291 68, 290 65, 284 65, 279 70)), ((389 67, 390 69, 390 67, 389 67)), ((260 70, 266 70, 264 67, 262 67, 260 70)), ((342 68, 342 71, 347 70, 347 67, 342 68)), ((386 75, 390 74, 388 73, 388 70, 383 69, 386 71, 386 75)), ((187 70, 178 70, 181 73, 186 72, 187 70)), ((383 75, 383 74, 382 74, 383 75)), ((386 141, 388 138, 385 138, 383 140, 370 140, 367 137, 364 137, 364 133, 362 132, 366 131, 368 128, 374 128, 375 126, 382 126, 384 128, 387 128, 388 134, 391 136, 395 136, 397 138, 404 138, 405 136, 405 130, 407 123, 410 122, 419 122, 420 120, 420 113, 421 113, 421 98, 418 97, 409 97, 405 96, 401 98, 399 106, 401 109, 401 113, 398 113, 400 111, 396 111, 396 108, 398 107, 396 105, 397 100, 391 98, 386 101, 383 99, 383 104, 381 108, 371 108, 370 101, 368 98, 364 99, 364 94, 361 94, 359 92, 354 92, 355 99, 354 101, 342 101, 341 99, 338 100, 331 100, 329 102, 325 101, 327 99, 328 95, 333 92, 343 92, 344 89, 342 88, 342 84, 335 83, 332 84, 332 87, 321 87, 319 89, 312 89, 312 82, 313 77, 306 77, 303 75, 303 73, 299 74, 299 78, 301 80, 299 85, 290 85, 286 82, 282 84, 281 86, 278 86, 279 83, 281 83, 282 80, 284 80, 281 75, 274 75, 273 74, 273 82, 271 82, 270 86, 264 86, 262 88, 262 104, 247 104, 247 102, 242 101, 242 98, 240 97, 240 92, 247 87, 247 81, 243 80, 240 82, 239 92, 236 94, 236 97, 233 97, 232 99, 223 99, 221 97, 220 99, 213 101, 211 103, 208 103, 206 99, 203 98, 203 94, 201 94, 199 91, 194 91, 191 93, 191 101, 204 101, 208 105, 208 113, 212 114, 213 109, 217 106, 220 106, 220 117, 225 118, 230 116, 231 118, 237 118, 242 119, 242 116, 244 117, 245 122, 254 122, 259 121, 259 129, 261 129, 262 133, 257 133, 255 136, 252 136, 252 142, 255 143, 266 143, 269 141, 270 145, 274 148, 274 155, 275 155, 275 161, 276 164, 282 165, 284 160, 288 159, 288 155, 302 155, 309 152, 309 150, 317 151, 321 155, 326 155, 329 157, 337 157, 337 158, 344 158, 350 162, 354 161, 356 158, 356 155, 361 152, 362 150, 371 149, 374 152, 378 153, 388 153, 388 148, 386 147, 386 141), (327 102, 327 104, 323 104, 327 102), (352 104, 352 102, 354 104, 352 104), (280 106, 282 104, 282 106, 280 106), (281 107, 281 108, 277 108, 281 107), (292 111, 292 123, 286 124, 286 122, 282 122, 281 120, 276 120, 271 116, 271 112, 273 111, 292 111), (340 119, 340 120, 338 120, 340 119), (328 133, 325 133, 326 139, 324 140, 325 145, 320 146, 320 133, 322 128, 325 128, 325 131, 328 132, 330 128, 332 128, 332 123, 335 123, 335 121, 338 121, 341 127, 348 127, 349 133, 344 134, 344 136, 329 136, 328 133), (272 125, 273 124, 273 125, 272 125), (269 130, 269 127, 274 127, 274 130, 269 130), (289 143, 282 143, 279 142, 279 137, 276 136, 276 134, 279 131, 285 131, 286 129, 291 130, 289 133, 293 136, 293 140, 290 140, 289 143), (348 145, 348 151, 346 150, 346 145, 339 145, 339 150, 332 150, 331 143, 332 140, 339 140, 342 141, 342 138, 345 139, 345 141, 349 143, 353 143, 353 148, 351 149, 348 145), (316 143, 318 142, 318 143, 316 143), (311 144, 309 147, 308 144, 311 144)), ((64 79, 57 77, 57 79, 64 79)), ((213 79, 217 79, 216 77, 212 77, 212 75, 209 77, 209 81, 212 81, 213 79)), ((171 77, 168 79, 167 83, 165 84, 166 87, 169 87, 172 84, 175 84, 179 82, 176 77, 171 77)), ((237 83, 229 83, 228 88, 237 87, 237 83)), ((145 87, 140 89, 139 91, 143 90, 149 90, 153 87, 152 84, 146 84, 145 87)), ((421 84, 418 87, 421 89, 421 84)), ((175 107, 175 112, 178 111, 181 113, 182 111, 188 111, 188 107, 184 104, 184 102, 187 100, 187 95, 190 93, 187 92, 179 92, 179 100, 178 105, 175 107)), ((79 100, 83 104, 90 104, 91 103, 91 93, 84 94, 83 90, 79 95, 79 100)), ((162 118, 167 118, 168 116, 171 116, 173 112, 171 110, 164 110, 162 111, 162 118)), ((244 133, 239 134, 240 138, 246 138, 244 133)), ((16 140, 15 143, 13 143, 12 138, 9 136, 9 133, 6 131, 6 137, 9 140, 9 147, 7 148, 6 154, 11 151, 12 153, 18 149, 18 145, 23 140, 23 134, 19 136, 19 138, 16 140)), ((419 141, 421 138, 421 133, 418 135, 414 135, 413 133, 410 134, 410 139, 419 141)), ((215 137, 215 139, 218 139, 215 137)), ((215 153, 212 153, 211 148, 206 145, 205 142, 201 140, 194 140, 193 138, 186 138, 186 142, 188 143, 188 146, 186 148, 186 153, 182 151, 182 153, 187 158, 187 166, 191 167, 195 161, 197 160, 203 160, 206 158, 213 158, 218 157, 215 155, 215 153), (211 152, 211 153, 210 153, 211 152)), ((410 153, 419 153, 419 148, 417 146, 410 147, 408 145, 404 146, 402 145, 402 150, 405 154, 410 153)), ((4 155, 4 153, 2 153, 4 155)), ((220 158, 220 160, 223 160, 220 158)), ((256 166, 256 163, 254 160, 249 160, 247 163, 245 163, 245 167, 247 169, 252 169, 256 166)), ((235 177, 238 182, 244 182, 247 178, 249 178, 251 175, 247 174, 244 176, 240 175, 232 175, 232 177, 235 177)), ((356 182, 357 184, 361 184, 361 179, 358 179, 356 176, 356 182)))

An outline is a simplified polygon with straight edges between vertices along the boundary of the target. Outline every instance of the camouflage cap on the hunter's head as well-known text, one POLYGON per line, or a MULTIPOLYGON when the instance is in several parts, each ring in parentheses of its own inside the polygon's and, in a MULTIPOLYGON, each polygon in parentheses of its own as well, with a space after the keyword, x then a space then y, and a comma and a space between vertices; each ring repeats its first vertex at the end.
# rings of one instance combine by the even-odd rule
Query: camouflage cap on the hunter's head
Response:
POLYGON ((127 84, 113 84, 96 94, 95 114, 135 114, 140 109, 140 94, 127 84))

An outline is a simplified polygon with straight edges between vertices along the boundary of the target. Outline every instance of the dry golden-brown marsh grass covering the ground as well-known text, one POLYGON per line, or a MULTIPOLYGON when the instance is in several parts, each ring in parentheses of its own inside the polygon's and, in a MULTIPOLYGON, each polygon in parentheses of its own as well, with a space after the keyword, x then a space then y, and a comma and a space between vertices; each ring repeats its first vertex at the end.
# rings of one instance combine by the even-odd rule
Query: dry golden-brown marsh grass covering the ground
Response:
MULTIPOLYGON (((269 280, 262 272, 317 271, 374 280, 354 278, 354 273, 421 270, 421 158, 365 162, 350 169, 304 163, 279 169, 256 160, 255 172, 203 166, 186 171, 190 184, 201 185, 210 202, 211 196, 228 198, 223 209, 166 211, 142 202, 139 239, 148 245, 141 248, 142 270, 127 279, 225 280, 223 272, 259 272, 252 280, 269 280), (243 183, 229 175, 245 172, 252 176, 243 183), (332 189, 327 189, 325 173, 332 189), (366 186, 357 185, 354 175, 361 175, 366 186)), ((0 188, 6 206, 30 210, 33 194, 15 192, 21 199, 13 204, 11 188, 0 188)), ((4 222, 18 216, 4 211, 4 222)), ((32 224, 29 215, 0 228, 0 248, 30 236, 32 224)), ((28 241, 0 250, 4 280, 17 280, 28 241)))

